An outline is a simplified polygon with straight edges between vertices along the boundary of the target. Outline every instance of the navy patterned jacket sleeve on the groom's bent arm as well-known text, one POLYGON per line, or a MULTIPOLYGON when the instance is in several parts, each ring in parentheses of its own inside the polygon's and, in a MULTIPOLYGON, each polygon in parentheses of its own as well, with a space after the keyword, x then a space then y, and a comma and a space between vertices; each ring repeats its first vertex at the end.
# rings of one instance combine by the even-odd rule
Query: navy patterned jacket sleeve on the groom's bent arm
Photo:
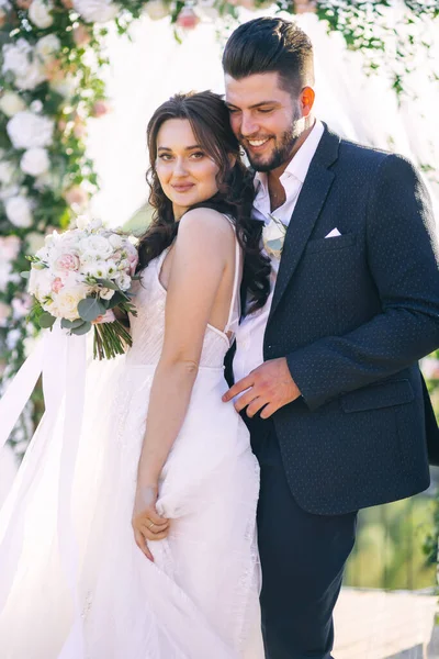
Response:
POLYGON ((382 312, 344 336, 286 356, 311 410, 415 364, 439 346, 439 250, 426 188, 414 167, 389 155, 367 212, 369 267, 382 312))

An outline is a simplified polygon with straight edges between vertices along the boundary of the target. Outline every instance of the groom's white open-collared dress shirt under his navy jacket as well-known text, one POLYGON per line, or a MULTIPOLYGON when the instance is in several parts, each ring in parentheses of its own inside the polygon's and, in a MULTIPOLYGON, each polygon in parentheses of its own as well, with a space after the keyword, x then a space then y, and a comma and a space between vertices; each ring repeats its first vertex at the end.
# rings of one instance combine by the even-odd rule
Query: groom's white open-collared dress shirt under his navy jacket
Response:
MULTIPOLYGON (((272 214, 285 225, 290 224, 297 197, 302 190, 323 133, 323 123, 317 120, 309 135, 280 177, 286 199, 285 203, 275 209, 272 214)), ((255 186, 257 186, 257 194, 254 202, 254 217, 255 220, 262 220, 268 224, 270 222, 269 213, 271 212, 271 208, 267 174, 257 172, 255 176, 255 186)), ((260 366, 263 361, 263 335, 270 314, 278 270, 279 260, 272 258, 270 295, 262 309, 258 309, 255 313, 243 319, 236 332, 236 354, 233 362, 235 382, 248 376, 251 370, 260 366)))

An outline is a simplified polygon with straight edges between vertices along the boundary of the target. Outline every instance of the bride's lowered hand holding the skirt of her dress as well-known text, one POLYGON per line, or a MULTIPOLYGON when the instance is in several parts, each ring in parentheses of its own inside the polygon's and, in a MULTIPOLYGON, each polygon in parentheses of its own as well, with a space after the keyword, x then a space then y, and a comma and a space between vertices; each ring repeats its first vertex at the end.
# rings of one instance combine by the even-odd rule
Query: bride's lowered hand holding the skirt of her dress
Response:
POLYGON ((146 558, 154 562, 148 548, 148 540, 162 540, 169 532, 169 520, 160 517, 156 511, 158 488, 156 485, 137 484, 134 500, 132 526, 136 545, 146 558))

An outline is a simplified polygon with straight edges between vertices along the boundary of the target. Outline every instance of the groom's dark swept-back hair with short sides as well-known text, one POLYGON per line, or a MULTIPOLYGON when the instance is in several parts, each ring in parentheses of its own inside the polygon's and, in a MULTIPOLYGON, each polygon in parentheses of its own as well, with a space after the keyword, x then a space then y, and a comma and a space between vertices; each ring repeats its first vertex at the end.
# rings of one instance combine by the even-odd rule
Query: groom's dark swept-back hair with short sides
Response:
POLYGON ((235 80, 278 72, 282 89, 299 96, 314 83, 313 44, 295 23, 262 16, 235 30, 224 49, 223 68, 235 80))

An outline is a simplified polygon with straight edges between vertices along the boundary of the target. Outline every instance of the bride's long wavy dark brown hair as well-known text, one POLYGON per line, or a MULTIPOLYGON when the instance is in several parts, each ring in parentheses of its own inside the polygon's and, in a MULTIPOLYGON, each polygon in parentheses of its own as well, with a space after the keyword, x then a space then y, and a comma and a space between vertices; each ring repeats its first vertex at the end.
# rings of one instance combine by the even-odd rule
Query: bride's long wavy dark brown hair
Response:
POLYGON ((217 193, 191 208, 211 208, 226 213, 236 226, 244 254, 243 287, 249 293, 251 313, 264 305, 270 292, 270 260, 261 254, 261 225, 251 220, 255 199, 252 177, 241 161, 239 143, 229 123, 228 110, 221 96, 212 91, 176 94, 162 103, 151 116, 147 129, 150 168, 147 181, 153 222, 138 245, 138 270, 147 267, 175 239, 179 222, 175 221, 172 202, 161 189, 157 172, 157 135, 170 119, 187 119, 200 146, 216 163, 217 193), (233 158, 230 158, 233 156, 233 158))

